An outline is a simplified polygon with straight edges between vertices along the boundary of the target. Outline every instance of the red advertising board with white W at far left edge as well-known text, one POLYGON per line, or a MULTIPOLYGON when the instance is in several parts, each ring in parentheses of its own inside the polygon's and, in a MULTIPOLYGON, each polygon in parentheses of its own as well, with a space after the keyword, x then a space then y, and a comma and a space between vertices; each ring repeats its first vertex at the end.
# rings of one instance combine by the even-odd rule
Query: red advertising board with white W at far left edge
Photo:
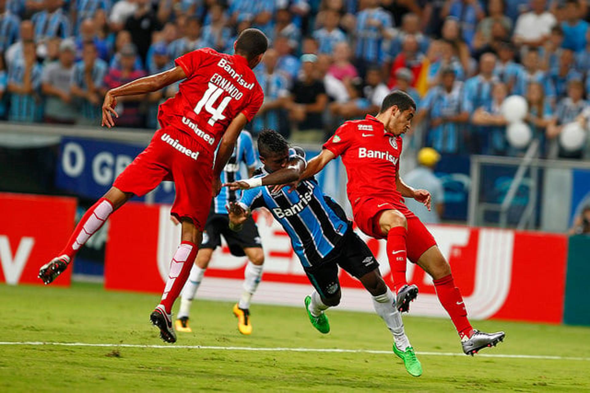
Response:
MULTIPOLYGON (((42 284, 39 267, 61 251, 74 229, 76 199, 0 193, 0 282, 42 284)), ((69 286, 67 269, 51 285, 69 286)))

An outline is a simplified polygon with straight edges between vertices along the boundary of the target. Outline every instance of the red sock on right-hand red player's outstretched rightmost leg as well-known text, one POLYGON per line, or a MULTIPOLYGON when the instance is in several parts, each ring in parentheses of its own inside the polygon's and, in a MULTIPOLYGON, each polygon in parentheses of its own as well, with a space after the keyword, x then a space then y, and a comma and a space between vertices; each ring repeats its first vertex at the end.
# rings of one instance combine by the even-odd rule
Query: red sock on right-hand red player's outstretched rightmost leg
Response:
POLYGON ((467 338, 471 337, 473 328, 467 319, 467 309, 463 303, 461 292, 455 286, 453 275, 434 280, 434 288, 437 290, 438 300, 440 300, 444 309, 447 310, 461 339, 464 336, 467 336, 467 338))

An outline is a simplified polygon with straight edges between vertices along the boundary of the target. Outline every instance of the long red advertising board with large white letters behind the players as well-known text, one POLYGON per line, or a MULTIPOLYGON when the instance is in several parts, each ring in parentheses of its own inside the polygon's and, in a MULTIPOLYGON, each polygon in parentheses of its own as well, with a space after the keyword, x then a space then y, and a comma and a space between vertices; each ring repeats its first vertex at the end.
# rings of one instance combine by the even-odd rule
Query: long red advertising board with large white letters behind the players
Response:
MULTIPOLYGON (((169 264, 180 239, 180 227, 169 219, 169 206, 130 204, 110 219, 105 285, 110 289, 160 293, 169 264), (129 223, 141 223, 132 230, 129 223)), ((300 305, 311 286, 289 236, 276 223, 259 219, 265 262, 263 280, 254 300, 281 305, 300 305)), ((559 323, 563 315, 563 293, 567 239, 563 235, 537 232, 429 226, 447 257, 455 283, 461 289, 473 319, 511 319, 559 323), (550 285, 551 295, 547 295, 550 285)), ((361 237, 381 264, 386 282, 392 286, 385 242, 361 237)), ((227 246, 214 253, 197 296, 235 300, 241 293, 245 257, 230 255, 227 246)), ((418 285, 412 315, 446 316, 438 302, 432 279, 408 263, 408 279, 418 285)), ((340 308, 372 311, 371 299, 358 280, 341 270, 343 299, 340 308)))

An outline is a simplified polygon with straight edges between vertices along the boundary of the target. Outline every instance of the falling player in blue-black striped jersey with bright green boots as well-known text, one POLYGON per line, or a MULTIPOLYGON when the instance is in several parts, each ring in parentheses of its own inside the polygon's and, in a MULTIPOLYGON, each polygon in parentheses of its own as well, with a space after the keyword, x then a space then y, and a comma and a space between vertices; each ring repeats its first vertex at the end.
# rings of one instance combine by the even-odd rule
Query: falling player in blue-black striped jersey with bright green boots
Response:
POLYGON ((340 303, 338 266, 358 278, 371 293, 375 311, 394 336, 393 351, 404 361, 408 373, 419 377, 422 366, 405 335, 401 315, 394 306, 394 294, 385 285, 375 256, 353 231, 342 207, 324 196, 313 177, 303 179, 293 192, 289 186, 261 187, 299 179, 306 166, 303 149, 289 149, 280 134, 264 130, 258 136, 258 152, 264 167, 255 172, 257 176, 226 184, 230 189, 246 189, 239 202, 230 203, 232 229, 241 230, 251 210, 270 210, 289 234, 293 250, 315 288, 304 303, 310 322, 324 334, 330 331, 324 311, 340 303))

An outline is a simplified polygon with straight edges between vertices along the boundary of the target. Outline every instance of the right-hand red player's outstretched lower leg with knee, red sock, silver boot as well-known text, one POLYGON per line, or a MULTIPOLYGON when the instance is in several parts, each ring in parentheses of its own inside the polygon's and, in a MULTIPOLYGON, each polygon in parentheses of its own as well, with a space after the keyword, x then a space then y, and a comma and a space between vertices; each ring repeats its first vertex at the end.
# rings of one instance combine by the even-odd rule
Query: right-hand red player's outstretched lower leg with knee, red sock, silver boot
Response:
POLYGON ((466 355, 476 354, 487 346, 496 346, 504 339, 504 332, 484 333, 474 330, 467 319, 467 309, 461 292, 455 286, 451 266, 438 249, 432 246, 418 259, 418 266, 422 267, 434 280, 438 300, 451 317, 461 338, 463 352, 466 355))

